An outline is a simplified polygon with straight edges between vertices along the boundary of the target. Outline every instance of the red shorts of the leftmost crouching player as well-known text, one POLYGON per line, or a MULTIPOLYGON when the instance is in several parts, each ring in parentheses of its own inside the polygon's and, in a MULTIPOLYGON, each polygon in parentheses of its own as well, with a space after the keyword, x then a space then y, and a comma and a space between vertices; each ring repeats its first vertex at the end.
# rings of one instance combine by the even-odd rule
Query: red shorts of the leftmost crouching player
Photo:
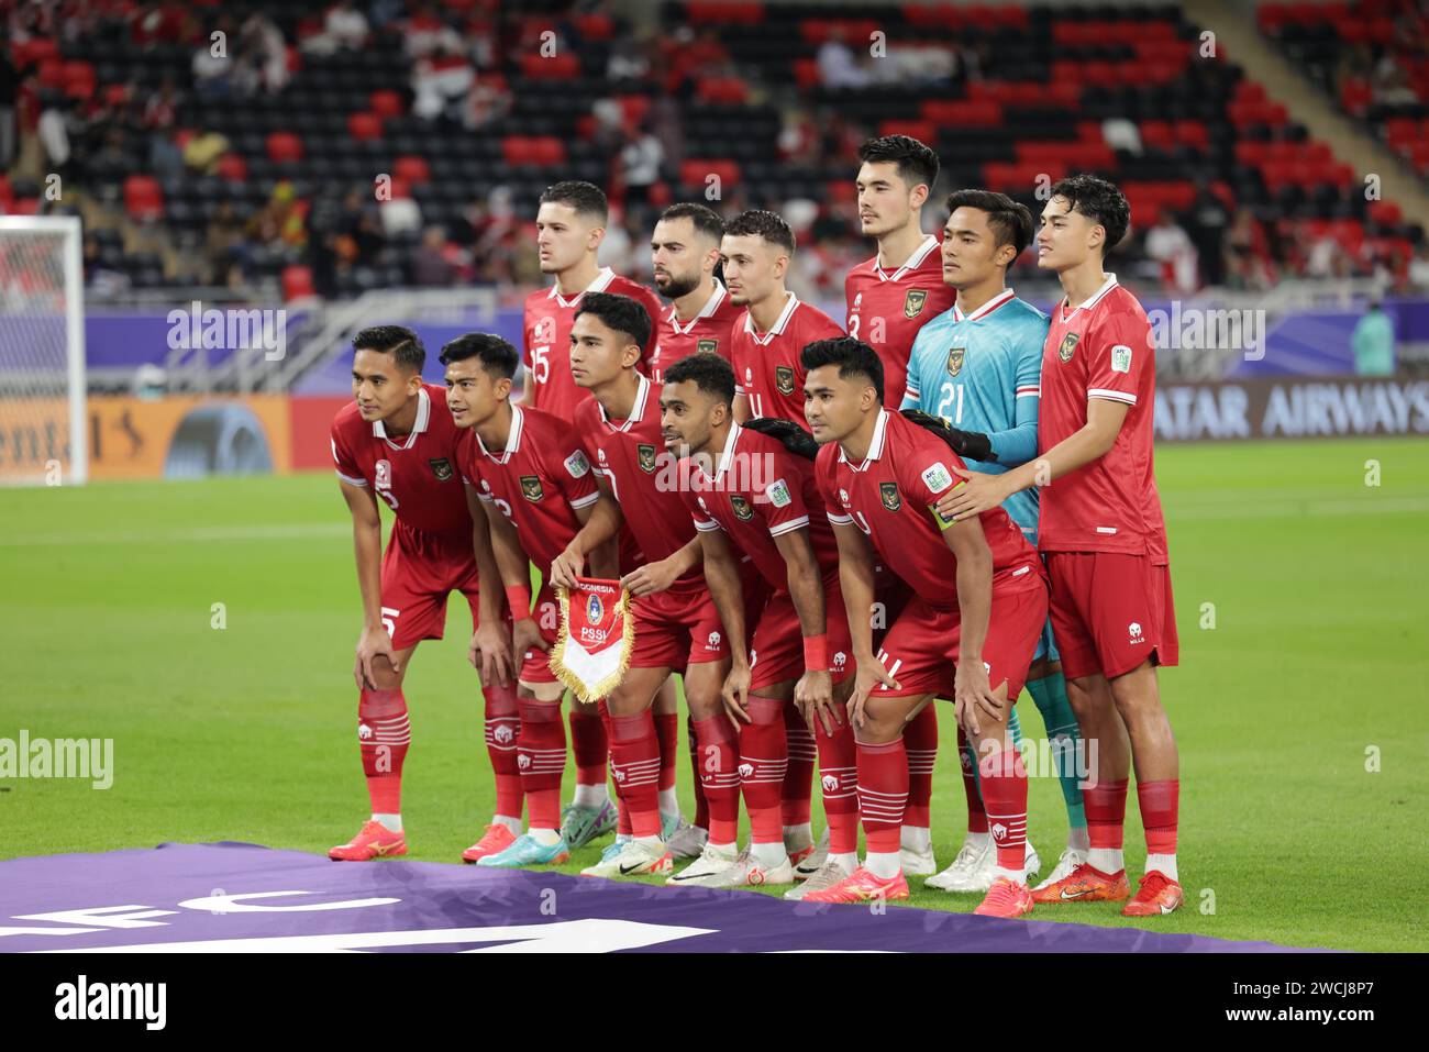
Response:
POLYGON ((476 556, 470 530, 426 533, 393 526, 382 557, 382 622, 392 645, 403 650, 423 639, 442 639, 447 596, 460 592, 477 617, 476 556))

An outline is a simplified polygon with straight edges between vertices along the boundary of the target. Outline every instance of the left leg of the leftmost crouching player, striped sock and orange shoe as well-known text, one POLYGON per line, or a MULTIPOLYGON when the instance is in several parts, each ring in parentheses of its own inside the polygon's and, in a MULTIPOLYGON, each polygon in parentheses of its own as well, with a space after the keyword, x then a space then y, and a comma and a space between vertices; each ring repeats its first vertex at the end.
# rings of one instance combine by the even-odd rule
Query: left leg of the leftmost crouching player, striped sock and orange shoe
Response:
POLYGON ((397 669, 386 658, 377 658, 373 662, 376 686, 364 686, 357 698, 357 746, 372 818, 353 839, 327 852, 334 862, 372 862, 407 853, 402 829, 402 765, 412 743, 412 725, 402 680, 416 649, 413 643, 393 655, 397 669))

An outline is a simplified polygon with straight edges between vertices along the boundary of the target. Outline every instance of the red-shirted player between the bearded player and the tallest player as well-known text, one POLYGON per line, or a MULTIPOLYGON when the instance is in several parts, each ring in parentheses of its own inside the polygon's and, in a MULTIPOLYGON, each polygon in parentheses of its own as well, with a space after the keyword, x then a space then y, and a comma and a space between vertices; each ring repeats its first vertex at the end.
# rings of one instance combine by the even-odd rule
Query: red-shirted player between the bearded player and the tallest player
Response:
POLYGON ((745 310, 730 330, 735 366, 735 419, 779 416, 807 427, 803 419, 806 343, 842 336, 833 319, 785 289, 795 254, 795 232, 773 212, 753 209, 725 224, 720 259, 735 306, 745 310))

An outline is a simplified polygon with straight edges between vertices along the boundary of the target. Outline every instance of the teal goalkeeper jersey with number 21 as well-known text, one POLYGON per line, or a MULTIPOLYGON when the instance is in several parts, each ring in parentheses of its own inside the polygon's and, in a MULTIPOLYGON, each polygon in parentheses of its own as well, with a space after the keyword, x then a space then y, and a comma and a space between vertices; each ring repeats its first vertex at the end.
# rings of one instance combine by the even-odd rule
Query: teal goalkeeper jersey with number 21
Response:
MULTIPOLYGON (((967 460, 976 472, 1002 475, 1037 455, 1037 397, 1047 316, 1012 289, 963 314, 956 306, 925 324, 907 363, 902 409, 922 409, 953 427, 980 432, 993 460, 967 460)), ((1037 490, 1007 497, 1003 507, 1027 540, 1037 539, 1037 490)))

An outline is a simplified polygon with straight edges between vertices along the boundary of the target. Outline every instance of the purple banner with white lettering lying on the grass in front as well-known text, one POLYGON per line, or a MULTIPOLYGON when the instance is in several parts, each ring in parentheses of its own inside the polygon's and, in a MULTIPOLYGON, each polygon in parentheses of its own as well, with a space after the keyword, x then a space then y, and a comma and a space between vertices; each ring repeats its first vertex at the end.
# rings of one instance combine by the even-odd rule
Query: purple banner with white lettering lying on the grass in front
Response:
POLYGON ((0 951, 10 952, 1286 949, 1163 935, 1153 926, 819 906, 750 892, 436 862, 339 863, 243 843, 0 862, 0 951))

